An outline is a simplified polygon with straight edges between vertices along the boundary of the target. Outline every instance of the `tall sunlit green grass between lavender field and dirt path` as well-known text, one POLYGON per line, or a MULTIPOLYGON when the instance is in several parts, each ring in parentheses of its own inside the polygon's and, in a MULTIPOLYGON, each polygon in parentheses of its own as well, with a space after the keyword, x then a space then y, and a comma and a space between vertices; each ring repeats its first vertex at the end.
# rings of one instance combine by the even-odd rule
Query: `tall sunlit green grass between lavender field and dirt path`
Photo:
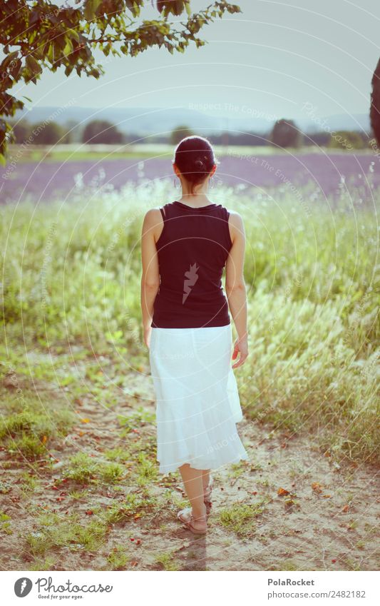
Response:
MULTIPOLYGON (((308 200, 309 191, 304 191, 308 200)), ((286 188, 217 188, 245 220, 250 358, 245 413, 308 430, 329 450, 379 456, 379 193, 300 203, 286 188)), ((81 344, 147 358, 140 330, 140 230, 173 199, 164 183, 76 203, 1 208, 4 354, 81 344)))

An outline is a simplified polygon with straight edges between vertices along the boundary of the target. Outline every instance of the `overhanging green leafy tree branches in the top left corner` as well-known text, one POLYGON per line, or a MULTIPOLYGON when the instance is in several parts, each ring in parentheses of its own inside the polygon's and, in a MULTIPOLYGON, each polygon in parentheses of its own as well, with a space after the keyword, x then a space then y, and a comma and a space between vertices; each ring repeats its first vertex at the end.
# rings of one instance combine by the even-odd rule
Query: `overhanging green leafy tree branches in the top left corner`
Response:
MULTIPOLYGON (((80 4, 81 0, 76 0, 80 4)), ((0 44, 5 58, 0 64, 0 116, 9 118, 24 101, 9 91, 17 83, 34 82, 44 70, 63 66, 66 76, 73 70, 99 78, 104 74, 93 51, 105 56, 136 56, 151 47, 184 52, 206 24, 226 12, 240 12, 225 0, 213 1, 192 13, 190 0, 158 0, 156 19, 144 19, 150 0, 84 0, 81 6, 58 6, 51 0, 8 0, 0 4, 0 44), (182 17, 183 19, 173 19, 182 17)), ((27 98, 25 98, 27 99, 27 98)), ((30 99, 28 99, 30 101, 30 99)), ((14 141, 9 121, 0 118, 0 161, 5 162, 7 143, 14 141)))

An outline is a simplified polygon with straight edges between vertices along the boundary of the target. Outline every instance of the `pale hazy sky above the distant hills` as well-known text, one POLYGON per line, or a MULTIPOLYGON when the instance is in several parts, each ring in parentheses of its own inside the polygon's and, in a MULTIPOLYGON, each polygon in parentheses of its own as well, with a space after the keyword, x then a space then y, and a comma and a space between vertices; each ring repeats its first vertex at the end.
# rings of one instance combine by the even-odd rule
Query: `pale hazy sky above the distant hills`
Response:
MULTIPOLYGON (((202 49, 173 56, 152 49, 134 59, 99 54, 106 76, 98 81, 67 79, 60 69, 18 93, 38 106, 190 106, 297 118, 312 103, 319 116, 368 113, 380 55, 379 0, 234 1, 242 14, 206 26, 202 49)), ((207 4, 192 1, 194 9, 207 4)))

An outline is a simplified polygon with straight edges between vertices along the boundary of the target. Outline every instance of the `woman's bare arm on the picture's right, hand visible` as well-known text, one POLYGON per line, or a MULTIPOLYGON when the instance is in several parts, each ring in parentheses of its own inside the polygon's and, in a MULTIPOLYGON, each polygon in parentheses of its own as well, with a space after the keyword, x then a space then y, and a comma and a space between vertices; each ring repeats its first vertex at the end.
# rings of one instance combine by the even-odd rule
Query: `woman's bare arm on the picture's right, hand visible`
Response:
POLYGON ((225 292, 238 335, 232 354, 232 359, 235 360, 237 353, 240 353, 239 360, 232 365, 232 368, 237 368, 245 363, 248 355, 247 293, 244 280, 245 228, 240 214, 233 211, 230 211, 229 225, 232 247, 226 262, 225 292))

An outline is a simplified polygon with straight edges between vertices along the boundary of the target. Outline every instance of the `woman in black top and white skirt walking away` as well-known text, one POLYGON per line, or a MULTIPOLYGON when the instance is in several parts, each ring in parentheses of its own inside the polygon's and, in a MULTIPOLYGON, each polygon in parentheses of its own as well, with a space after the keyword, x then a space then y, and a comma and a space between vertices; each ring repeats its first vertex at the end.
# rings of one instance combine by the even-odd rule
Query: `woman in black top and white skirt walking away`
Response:
POLYGON ((210 470, 248 458, 236 428, 242 409, 232 370, 248 355, 245 230, 238 213, 207 197, 216 165, 207 139, 180 141, 173 169, 182 197, 148 211, 141 238, 159 470, 180 470, 191 507, 178 519, 195 534, 207 530, 210 470), (233 353, 229 308, 237 330, 233 353))

